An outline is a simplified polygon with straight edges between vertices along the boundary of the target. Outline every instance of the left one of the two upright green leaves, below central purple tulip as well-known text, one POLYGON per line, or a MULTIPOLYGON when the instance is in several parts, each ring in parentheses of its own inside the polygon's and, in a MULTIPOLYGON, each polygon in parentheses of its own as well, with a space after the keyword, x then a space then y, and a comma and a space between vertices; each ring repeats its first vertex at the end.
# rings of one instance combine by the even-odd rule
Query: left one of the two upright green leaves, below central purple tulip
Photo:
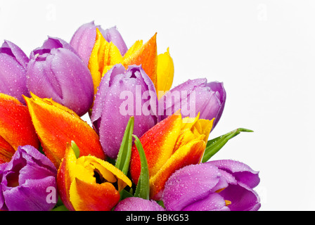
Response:
POLYGON ((120 169, 126 176, 129 169, 132 147, 132 133, 134 132, 134 117, 130 117, 127 127, 124 131, 120 151, 117 155, 115 167, 120 169))

